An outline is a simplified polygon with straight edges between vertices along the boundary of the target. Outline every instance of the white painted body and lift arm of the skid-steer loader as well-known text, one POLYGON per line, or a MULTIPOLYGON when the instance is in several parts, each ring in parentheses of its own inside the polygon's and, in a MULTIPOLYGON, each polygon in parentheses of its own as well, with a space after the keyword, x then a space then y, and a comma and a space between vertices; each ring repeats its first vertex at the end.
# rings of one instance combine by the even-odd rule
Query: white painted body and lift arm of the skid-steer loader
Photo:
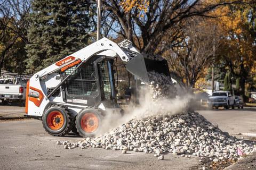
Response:
MULTIPOLYGON (((134 48, 133 51, 135 53, 138 53, 138 51, 136 51, 134 48)), ((29 92, 27 94, 28 100, 26 101, 27 114, 30 116, 42 116, 44 109, 50 101, 68 105, 74 113, 78 113, 79 111, 81 111, 82 108, 87 107, 83 105, 66 104, 63 101, 62 93, 60 93, 61 95, 59 97, 47 98, 46 87, 54 88, 58 86, 58 84, 61 82, 61 80, 57 78, 60 77, 60 74, 54 73, 55 71, 67 67, 70 64, 73 64, 74 62, 86 62, 87 60, 89 60, 91 56, 95 54, 108 55, 110 57, 115 57, 117 54, 124 62, 128 62, 131 60, 129 54, 125 53, 120 46, 118 46, 116 43, 107 38, 102 38, 97 42, 79 50, 78 52, 71 54, 71 57, 67 56, 66 58, 61 60, 62 63, 54 63, 46 67, 45 69, 39 71, 38 73, 34 74, 33 77, 30 78, 29 92), (37 96, 38 98, 35 98, 37 96)))

